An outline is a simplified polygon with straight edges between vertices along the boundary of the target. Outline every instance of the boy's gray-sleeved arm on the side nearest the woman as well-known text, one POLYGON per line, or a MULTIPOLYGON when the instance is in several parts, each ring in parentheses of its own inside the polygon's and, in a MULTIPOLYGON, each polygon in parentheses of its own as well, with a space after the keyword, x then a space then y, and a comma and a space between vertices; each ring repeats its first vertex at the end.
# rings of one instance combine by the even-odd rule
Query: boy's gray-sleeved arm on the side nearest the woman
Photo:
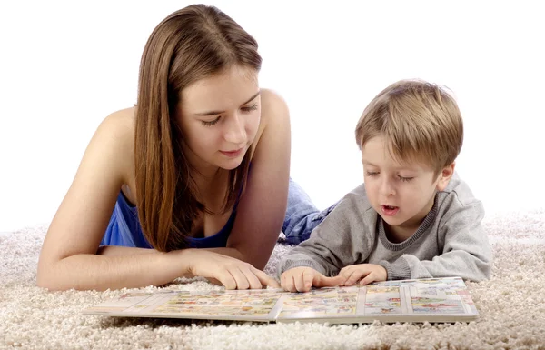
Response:
POLYGON ((293 267, 312 267, 322 275, 337 275, 342 267, 369 255, 372 235, 365 223, 365 201, 350 193, 318 225, 311 237, 294 247, 278 265, 278 276, 293 267))

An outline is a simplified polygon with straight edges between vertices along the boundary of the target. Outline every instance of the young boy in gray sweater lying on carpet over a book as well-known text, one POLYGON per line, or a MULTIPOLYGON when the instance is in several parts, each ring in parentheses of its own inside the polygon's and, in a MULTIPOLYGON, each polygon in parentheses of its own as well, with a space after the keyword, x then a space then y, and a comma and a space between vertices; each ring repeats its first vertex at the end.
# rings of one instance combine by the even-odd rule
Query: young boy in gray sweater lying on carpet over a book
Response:
POLYGON ((364 184, 282 259, 282 287, 490 278, 483 206, 454 172, 462 140, 460 110, 441 87, 405 80, 384 89, 356 127, 364 184))

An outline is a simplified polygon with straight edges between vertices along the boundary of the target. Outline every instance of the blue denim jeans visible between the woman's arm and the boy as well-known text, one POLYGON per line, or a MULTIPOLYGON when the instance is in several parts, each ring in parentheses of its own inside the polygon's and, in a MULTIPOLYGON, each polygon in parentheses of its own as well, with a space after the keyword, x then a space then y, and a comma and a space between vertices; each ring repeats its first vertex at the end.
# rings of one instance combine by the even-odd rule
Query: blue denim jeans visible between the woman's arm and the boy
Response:
POLYGON ((302 241, 309 239, 312 230, 322 223, 335 205, 337 203, 322 211, 318 210, 309 195, 290 177, 288 208, 282 225, 282 232, 286 235, 286 242, 291 245, 299 245, 302 241))

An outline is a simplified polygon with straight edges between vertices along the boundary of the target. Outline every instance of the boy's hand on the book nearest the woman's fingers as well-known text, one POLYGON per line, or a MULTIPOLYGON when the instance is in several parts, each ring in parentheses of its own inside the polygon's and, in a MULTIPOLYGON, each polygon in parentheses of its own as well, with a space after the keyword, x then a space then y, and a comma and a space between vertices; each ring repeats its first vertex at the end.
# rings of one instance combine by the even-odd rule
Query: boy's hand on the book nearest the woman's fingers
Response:
POLYGON ((284 271, 280 277, 282 288, 289 292, 308 292, 312 286, 342 285, 344 277, 326 277, 311 267, 294 267, 284 271))

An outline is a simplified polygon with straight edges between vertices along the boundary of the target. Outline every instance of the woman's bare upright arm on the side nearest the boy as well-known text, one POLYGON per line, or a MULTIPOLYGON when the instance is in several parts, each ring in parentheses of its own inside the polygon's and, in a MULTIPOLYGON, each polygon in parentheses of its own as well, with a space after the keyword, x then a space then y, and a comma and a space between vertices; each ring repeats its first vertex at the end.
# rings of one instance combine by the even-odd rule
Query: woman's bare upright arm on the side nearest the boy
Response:
POLYGON ((263 133, 238 205, 227 248, 214 251, 263 269, 282 229, 290 176, 290 116, 282 98, 262 90, 263 133))

